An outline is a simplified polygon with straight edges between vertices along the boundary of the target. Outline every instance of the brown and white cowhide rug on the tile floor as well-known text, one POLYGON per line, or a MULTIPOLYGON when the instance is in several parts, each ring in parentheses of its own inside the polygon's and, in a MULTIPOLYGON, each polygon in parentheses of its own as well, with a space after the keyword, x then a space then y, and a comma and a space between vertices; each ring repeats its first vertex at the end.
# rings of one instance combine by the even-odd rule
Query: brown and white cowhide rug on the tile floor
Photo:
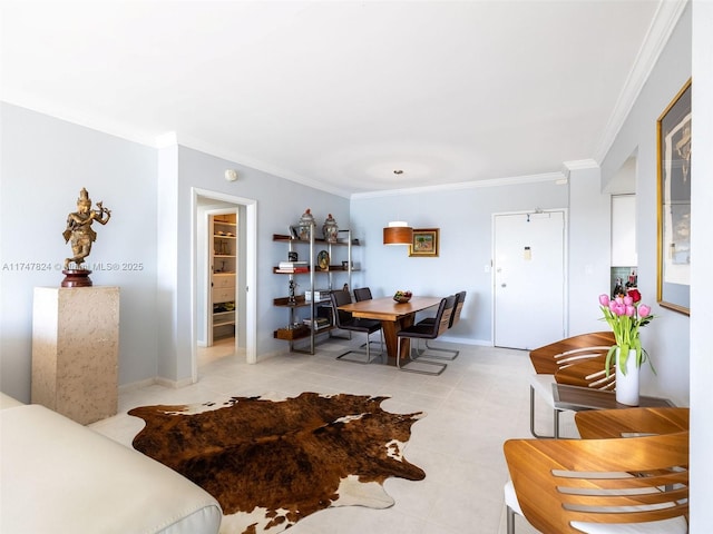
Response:
POLYGON ((422 412, 391 414, 389 397, 302 393, 216 404, 144 406, 134 447, 212 494, 222 533, 276 533, 330 506, 385 508, 391 476, 426 473, 403 457, 422 412))

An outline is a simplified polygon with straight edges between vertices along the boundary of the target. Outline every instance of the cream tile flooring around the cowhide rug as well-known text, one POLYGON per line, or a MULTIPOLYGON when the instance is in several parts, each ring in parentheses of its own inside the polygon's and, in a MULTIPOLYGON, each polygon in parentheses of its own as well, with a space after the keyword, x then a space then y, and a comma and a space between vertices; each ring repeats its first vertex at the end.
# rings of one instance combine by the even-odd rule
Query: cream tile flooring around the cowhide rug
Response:
MULTIPOLYGON (((202 352, 196 384, 125 390, 119 414, 91 426, 130 446, 144 423, 126 412, 141 405, 202 403, 234 395, 285 397, 307 390, 388 395, 384 409, 428 414, 413 425, 406 448, 406 457, 426 471, 426 479, 388 479, 384 487, 395 500, 391 508, 330 508, 297 523, 290 533, 505 533, 502 486, 508 475, 502 443, 529 437, 527 352, 449 345, 460 348, 459 357, 442 375, 424 376, 377 363, 335 360, 346 346, 358 344, 358 339, 332 338, 320 344, 313 356, 284 354, 256 365, 245 364, 231 345, 218 344, 202 352)), ((539 412, 538 427, 546 431, 549 413, 544 407, 539 412)), ((564 434, 573 428, 563 418, 564 434)), ((529 532, 529 525, 518 520, 517 533, 529 532)))

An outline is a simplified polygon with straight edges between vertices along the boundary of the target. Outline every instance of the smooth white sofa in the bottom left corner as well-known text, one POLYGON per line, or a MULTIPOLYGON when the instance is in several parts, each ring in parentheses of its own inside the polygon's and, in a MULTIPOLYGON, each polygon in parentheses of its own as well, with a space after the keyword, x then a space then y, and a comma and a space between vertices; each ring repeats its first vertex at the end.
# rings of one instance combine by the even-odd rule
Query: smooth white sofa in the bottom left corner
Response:
POLYGON ((173 469, 0 393, 0 532, 217 533, 222 511, 173 469))

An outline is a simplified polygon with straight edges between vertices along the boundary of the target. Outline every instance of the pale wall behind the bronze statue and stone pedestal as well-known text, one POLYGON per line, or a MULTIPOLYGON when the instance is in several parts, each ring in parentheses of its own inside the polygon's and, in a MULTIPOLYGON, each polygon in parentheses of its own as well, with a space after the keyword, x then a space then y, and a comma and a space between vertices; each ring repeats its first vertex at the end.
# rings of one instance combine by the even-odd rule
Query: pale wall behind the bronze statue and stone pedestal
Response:
POLYGON ((60 285, 71 250, 62 231, 79 190, 111 209, 95 225, 88 265, 99 286, 120 286, 119 380, 156 374, 156 151, 117 137, 2 105, 0 164, 0 388, 30 399, 32 293, 60 285), (22 264, 48 265, 38 270, 22 264), (125 264, 140 264, 128 270, 125 264))

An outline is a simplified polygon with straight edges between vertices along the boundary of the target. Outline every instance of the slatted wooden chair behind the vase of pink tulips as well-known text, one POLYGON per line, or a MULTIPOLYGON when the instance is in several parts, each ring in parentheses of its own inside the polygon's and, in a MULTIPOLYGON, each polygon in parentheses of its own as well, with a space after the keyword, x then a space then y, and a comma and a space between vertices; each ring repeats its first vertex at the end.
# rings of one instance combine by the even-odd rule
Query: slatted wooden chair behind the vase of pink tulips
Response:
POLYGON ((530 376, 530 434, 534 437, 559 437, 559 413, 555 407, 553 384, 592 387, 613 390, 615 374, 607 376, 606 353, 616 344, 611 330, 572 336, 530 350, 535 373, 530 376), (584 362, 590 360, 587 365, 584 362), (583 364, 583 365, 577 365, 583 364), (535 431, 535 393, 553 411, 553 435, 540 435, 535 431))

